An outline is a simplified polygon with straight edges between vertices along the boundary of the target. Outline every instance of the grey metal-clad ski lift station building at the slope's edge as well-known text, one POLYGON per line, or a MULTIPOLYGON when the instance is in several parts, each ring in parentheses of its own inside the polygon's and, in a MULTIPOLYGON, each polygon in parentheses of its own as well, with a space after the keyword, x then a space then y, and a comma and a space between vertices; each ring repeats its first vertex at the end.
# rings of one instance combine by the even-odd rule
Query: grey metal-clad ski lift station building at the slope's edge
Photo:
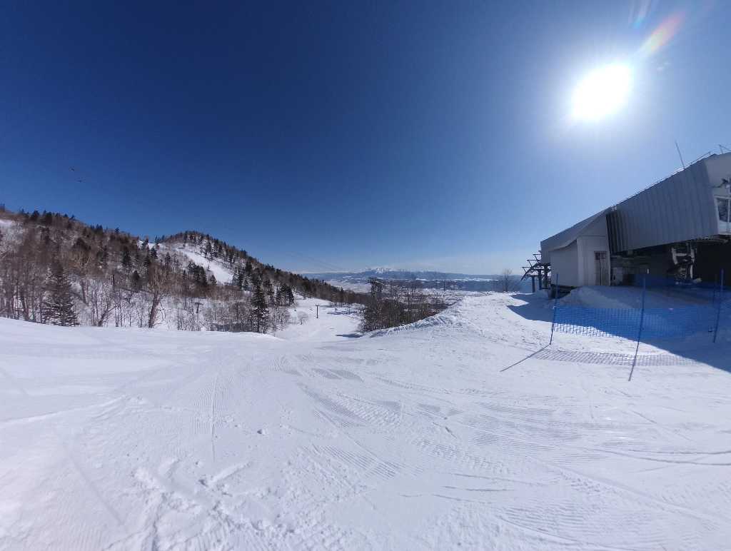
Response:
POLYGON ((541 241, 526 267, 552 285, 633 284, 638 275, 731 281, 731 153, 689 167, 541 241))

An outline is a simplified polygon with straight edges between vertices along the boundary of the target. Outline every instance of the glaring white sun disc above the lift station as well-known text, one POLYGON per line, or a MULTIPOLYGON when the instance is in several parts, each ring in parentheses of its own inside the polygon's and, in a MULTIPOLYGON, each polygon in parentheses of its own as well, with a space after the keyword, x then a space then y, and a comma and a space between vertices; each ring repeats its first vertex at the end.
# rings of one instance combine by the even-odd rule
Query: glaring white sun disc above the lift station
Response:
POLYGON ((632 88, 632 69, 611 64, 590 72, 572 96, 573 115, 582 121, 598 121, 616 113, 627 101, 632 88))

